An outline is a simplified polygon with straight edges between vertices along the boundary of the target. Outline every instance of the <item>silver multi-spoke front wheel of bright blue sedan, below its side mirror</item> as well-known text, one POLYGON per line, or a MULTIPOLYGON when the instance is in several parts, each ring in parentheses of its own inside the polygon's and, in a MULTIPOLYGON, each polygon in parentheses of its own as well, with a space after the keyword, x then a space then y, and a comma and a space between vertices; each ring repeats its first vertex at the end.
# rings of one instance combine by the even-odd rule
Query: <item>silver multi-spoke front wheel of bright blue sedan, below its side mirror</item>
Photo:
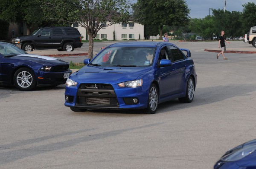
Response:
POLYGON ((147 113, 147 114, 156 113, 157 105, 158 105, 158 90, 157 90, 157 86, 152 84, 149 88, 148 107, 145 110, 145 113, 147 113))

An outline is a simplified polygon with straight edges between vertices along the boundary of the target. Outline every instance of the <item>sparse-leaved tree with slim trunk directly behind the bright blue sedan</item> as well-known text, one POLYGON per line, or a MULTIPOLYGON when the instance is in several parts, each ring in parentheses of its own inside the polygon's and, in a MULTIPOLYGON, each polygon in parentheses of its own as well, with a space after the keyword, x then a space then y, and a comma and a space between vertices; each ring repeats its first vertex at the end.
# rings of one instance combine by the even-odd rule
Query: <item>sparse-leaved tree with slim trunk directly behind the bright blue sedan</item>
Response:
POLYGON ((126 0, 44 0, 42 6, 48 20, 79 23, 89 36, 88 57, 93 58, 93 38, 103 27, 127 22, 126 0))

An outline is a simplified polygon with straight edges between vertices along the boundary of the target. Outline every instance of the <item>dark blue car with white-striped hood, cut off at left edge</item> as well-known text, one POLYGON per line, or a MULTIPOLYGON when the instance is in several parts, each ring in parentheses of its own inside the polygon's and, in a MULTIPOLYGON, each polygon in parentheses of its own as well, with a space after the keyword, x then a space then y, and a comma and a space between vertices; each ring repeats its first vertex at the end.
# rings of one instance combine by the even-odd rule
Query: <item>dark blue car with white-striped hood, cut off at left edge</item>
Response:
POLYGON ((15 45, 0 42, 0 85, 33 90, 37 85, 62 85, 72 73, 60 59, 30 55, 15 45))

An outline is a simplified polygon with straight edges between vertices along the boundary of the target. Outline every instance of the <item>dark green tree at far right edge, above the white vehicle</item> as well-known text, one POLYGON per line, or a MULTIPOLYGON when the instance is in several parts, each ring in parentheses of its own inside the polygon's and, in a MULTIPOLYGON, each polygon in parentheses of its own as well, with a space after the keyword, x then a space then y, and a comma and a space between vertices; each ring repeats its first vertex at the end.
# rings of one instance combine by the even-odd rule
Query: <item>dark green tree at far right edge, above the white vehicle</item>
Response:
POLYGON ((244 7, 243 13, 241 14, 241 22, 243 25, 243 31, 247 32, 250 27, 256 26, 256 4, 246 3, 242 5, 244 7))

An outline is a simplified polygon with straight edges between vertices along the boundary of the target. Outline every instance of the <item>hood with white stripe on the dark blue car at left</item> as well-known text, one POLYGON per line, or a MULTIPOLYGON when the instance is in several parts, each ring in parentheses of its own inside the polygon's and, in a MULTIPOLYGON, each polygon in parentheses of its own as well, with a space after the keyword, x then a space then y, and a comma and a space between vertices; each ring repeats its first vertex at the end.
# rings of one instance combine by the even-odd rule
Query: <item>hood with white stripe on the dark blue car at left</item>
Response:
POLYGON ((40 64, 55 64, 55 65, 67 65, 68 62, 65 62, 60 59, 56 59, 54 57, 49 56, 41 56, 41 55, 31 55, 31 54, 20 54, 17 56, 13 56, 12 59, 19 59, 19 60, 27 60, 32 62, 37 62, 40 64))

